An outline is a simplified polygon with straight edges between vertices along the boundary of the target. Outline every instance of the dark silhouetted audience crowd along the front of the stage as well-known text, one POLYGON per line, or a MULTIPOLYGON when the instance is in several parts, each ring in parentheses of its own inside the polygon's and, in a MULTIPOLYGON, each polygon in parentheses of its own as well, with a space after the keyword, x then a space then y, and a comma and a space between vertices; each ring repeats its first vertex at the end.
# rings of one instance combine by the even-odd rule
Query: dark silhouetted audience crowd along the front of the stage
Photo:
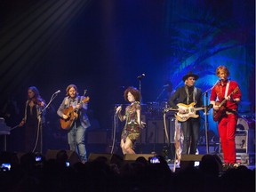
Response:
MULTIPOLYGON (((117 155, 115 155, 117 156, 117 155)), ((133 162, 122 157, 108 161, 105 156, 82 164, 66 164, 68 156, 60 150, 56 158, 45 160, 40 154, 0 154, 0 188, 5 192, 254 192, 255 169, 244 165, 221 170, 214 155, 204 155, 198 167, 172 172, 163 156, 152 164, 140 156, 133 162), (40 160, 36 157, 41 156, 40 160)))

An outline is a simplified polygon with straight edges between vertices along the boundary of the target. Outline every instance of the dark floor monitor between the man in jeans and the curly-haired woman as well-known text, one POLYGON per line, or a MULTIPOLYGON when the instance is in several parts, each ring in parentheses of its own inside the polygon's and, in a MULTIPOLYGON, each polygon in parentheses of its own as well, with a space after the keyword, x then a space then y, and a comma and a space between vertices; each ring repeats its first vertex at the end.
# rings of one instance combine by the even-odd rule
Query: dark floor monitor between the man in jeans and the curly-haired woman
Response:
POLYGON ((107 164, 120 164, 123 162, 123 157, 118 156, 116 154, 96 154, 96 153, 91 153, 88 157, 88 162, 92 162, 94 160, 100 159, 100 158, 106 158, 107 159, 107 164))

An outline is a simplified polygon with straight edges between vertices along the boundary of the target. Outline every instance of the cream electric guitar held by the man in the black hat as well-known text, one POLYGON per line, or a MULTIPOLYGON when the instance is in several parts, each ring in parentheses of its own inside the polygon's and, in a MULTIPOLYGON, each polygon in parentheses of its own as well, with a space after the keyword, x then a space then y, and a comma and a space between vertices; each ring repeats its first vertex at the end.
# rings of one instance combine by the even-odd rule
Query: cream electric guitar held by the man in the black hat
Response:
MULTIPOLYGON (((195 108, 194 106, 196 105, 195 102, 190 103, 189 105, 183 104, 183 103, 178 103, 177 106, 185 111, 185 113, 176 113, 174 116, 176 119, 180 122, 185 122, 188 120, 188 118, 198 118, 198 115, 196 115, 196 111, 198 110, 204 110, 204 108, 195 108)), ((176 108, 166 108, 164 109, 165 112, 169 110, 174 110, 174 111, 179 111, 179 109, 176 108)))

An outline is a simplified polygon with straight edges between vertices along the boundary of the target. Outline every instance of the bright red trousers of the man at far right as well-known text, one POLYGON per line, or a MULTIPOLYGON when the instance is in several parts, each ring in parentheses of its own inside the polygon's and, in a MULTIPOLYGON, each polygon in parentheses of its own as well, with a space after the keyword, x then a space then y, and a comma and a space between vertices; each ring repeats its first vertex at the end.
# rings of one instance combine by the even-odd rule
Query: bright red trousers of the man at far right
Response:
POLYGON ((221 118, 218 125, 225 164, 236 163, 236 123, 237 116, 235 114, 229 114, 221 118))

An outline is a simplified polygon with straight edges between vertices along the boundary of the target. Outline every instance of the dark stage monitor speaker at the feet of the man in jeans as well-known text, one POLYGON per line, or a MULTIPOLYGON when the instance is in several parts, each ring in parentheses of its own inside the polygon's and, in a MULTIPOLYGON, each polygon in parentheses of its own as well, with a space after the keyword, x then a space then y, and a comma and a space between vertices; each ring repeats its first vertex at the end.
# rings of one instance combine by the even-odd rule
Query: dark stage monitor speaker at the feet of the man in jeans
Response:
MULTIPOLYGON (((45 155, 45 159, 49 160, 49 159, 56 159, 57 155, 60 151, 63 150, 51 150, 48 149, 45 155)), ((72 164, 76 164, 77 162, 80 161, 79 156, 76 154, 75 151, 72 150, 65 150, 68 156, 68 162, 72 165, 72 164)))

